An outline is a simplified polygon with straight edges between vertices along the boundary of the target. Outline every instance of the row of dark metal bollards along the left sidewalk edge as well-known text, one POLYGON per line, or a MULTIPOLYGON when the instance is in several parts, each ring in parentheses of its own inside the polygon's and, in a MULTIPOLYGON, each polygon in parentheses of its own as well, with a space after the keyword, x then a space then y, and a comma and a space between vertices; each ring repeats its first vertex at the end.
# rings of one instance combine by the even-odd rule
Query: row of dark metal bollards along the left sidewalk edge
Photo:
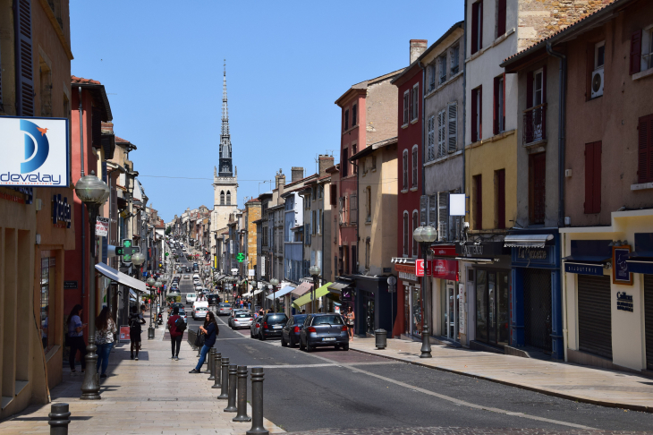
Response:
POLYGON ((220 388, 219 400, 226 400, 225 413, 236 413, 233 422, 251 422, 247 435, 268 435, 263 426, 263 369, 251 369, 251 412, 247 414, 247 366, 229 363, 229 358, 211 348, 207 358, 211 388, 220 388))

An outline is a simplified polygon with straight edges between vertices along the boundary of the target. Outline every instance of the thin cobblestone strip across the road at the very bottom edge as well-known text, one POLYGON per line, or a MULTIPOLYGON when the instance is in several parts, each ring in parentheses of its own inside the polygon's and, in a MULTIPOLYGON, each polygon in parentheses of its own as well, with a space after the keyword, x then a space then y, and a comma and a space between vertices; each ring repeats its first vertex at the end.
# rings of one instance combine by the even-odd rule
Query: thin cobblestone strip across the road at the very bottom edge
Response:
POLYGON ((547 431, 542 429, 477 429, 477 428, 367 428, 321 429, 319 431, 288 432, 287 435, 643 435, 653 432, 633 431, 547 431))

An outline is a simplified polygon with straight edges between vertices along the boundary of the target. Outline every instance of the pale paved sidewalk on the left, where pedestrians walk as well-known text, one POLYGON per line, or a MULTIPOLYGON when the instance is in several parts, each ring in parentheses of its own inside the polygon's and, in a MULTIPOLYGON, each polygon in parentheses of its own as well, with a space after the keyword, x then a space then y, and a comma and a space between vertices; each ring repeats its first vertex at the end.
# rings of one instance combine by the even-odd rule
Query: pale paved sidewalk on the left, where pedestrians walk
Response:
MULTIPOLYGON (((70 405, 70 433, 74 434, 244 434, 251 422, 232 422, 225 413, 225 400, 216 400, 208 374, 188 373, 197 364, 197 351, 182 342, 179 361, 170 359, 170 341, 148 341, 147 331, 140 349, 140 361, 130 359, 129 343, 111 354, 108 378, 102 380, 102 400, 80 400, 82 376, 64 369, 64 382, 51 391, 53 402, 70 405)), ((248 379, 248 388, 251 388, 248 379)), ((269 394, 269 393, 268 393, 269 394)), ((248 405, 249 408, 249 405, 248 405)), ((49 433, 50 405, 32 405, 23 413, 0 422, 0 433, 49 433)), ((251 409, 248 411, 251 416, 251 409)), ((272 433, 284 432, 265 420, 272 433)))

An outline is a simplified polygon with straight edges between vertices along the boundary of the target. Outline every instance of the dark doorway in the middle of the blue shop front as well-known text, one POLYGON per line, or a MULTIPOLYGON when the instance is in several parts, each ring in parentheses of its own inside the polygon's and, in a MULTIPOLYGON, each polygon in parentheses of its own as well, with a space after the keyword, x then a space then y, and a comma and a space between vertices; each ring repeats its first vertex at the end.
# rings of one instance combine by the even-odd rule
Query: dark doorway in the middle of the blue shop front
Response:
POLYGON ((551 271, 524 270, 523 286, 525 344, 551 352, 551 271))

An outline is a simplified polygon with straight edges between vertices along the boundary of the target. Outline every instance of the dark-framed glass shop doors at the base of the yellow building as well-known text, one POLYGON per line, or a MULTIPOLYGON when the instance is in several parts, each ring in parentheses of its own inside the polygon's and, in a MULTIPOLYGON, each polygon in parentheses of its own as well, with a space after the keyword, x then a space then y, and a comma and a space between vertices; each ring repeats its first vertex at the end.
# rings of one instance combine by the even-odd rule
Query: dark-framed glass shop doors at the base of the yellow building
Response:
POLYGON ((490 345, 508 344, 508 276, 476 270, 476 339, 490 345))

